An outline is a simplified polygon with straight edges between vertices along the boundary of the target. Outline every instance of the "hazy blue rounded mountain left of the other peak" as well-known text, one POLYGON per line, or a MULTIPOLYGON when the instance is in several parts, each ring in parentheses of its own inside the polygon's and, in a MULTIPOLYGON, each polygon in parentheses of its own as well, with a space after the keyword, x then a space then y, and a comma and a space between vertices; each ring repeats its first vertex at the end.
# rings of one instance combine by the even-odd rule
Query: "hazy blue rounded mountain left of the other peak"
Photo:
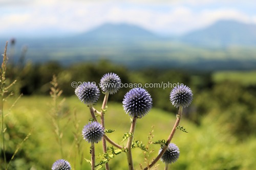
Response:
POLYGON ((154 33, 147 31, 139 26, 130 25, 127 23, 105 23, 97 28, 94 28, 86 33, 76 36, 86 40, 94 41, 143 41, 154 40, 159 37, 154 33))

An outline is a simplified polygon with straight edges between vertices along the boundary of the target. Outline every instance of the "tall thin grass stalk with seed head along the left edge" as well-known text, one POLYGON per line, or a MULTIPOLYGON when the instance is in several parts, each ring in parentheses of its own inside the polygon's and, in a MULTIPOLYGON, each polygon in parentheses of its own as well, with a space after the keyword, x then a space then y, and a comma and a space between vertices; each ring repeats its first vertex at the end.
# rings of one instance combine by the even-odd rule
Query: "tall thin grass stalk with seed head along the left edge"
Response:
POLYGON ((7 44, 8 41, 6 42, 5 45, 5 52, 4 52, 4 57, 3 57, 3 63, 2 63, 2 67, 1 67, 1 82, 0 82, 0 86, 1 86, 1 115, 2 115, 2 138, 3 138, 3 153, 4 153, 4 162, 5 162, 5 169, 7 169, 7 160, 6 160, 6 153, 5 153, 5 129, 4 129, 4 95, 6 92, 5 89, 5 71, 6 71, 6 63, 7 63, 7 56, 6 56, 6 52, 7 52, 7 44))

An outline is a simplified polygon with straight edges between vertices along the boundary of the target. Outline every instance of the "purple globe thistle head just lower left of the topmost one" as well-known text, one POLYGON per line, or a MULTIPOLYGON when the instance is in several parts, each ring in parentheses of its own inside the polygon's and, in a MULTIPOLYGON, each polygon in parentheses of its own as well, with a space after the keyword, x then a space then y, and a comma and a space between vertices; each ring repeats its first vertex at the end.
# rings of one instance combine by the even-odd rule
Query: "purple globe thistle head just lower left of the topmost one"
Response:
POLYGON ((84 104, 92 105, 98 101, 100 91, 95 83, 84 82, 75 89, 75 94, 84 104))

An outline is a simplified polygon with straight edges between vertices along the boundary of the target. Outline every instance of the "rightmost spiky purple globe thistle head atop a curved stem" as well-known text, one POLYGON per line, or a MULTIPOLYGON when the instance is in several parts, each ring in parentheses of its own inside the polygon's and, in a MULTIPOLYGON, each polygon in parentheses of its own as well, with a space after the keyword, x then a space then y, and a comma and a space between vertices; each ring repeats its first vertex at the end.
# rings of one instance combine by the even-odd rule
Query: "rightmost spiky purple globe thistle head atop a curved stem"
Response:
POLYGON ((175 107, 187 107, 193 100, 192 90, 185 85, 178 85, 170 92, 170 102, 175 107))

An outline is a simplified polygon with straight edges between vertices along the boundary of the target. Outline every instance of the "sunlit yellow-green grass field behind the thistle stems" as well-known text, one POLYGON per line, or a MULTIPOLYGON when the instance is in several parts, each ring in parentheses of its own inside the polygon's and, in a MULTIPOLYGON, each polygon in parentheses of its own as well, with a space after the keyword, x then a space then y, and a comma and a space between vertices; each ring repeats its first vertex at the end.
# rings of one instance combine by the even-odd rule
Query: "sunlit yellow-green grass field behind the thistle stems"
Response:
MULTIPOLYGON (((60 148, 54 135, 51 123, 51 102, 48 96, 22 96, 15 106, 8 111, 14 99, 9 99, 5 104, 5 122, 8 124, 7 149, 13 150, 22 139, 32 130, 32 134, 25 141, 13 162, 18 165, 16 169, 50 169, 55 160, 60 159, 60 148)), ((166 101, 169 102, 169 101, 166 101)), ((100 110, 101 104, 95 106, 100 110)), ((170 107, 173 107, 170 104, 170 107)), ((74 133, 81 134, 82 127, 89 122, 90 113, 86 105, 81 103, 76 96, 67 98, 61 108, 67 112, 59 121, 63 132, 64 159, 68 160, 72 169, 90 169, 89 163, 83 158, 90 159, 90 144, 81 140, 80 148, 76 147, 74 133), (75 114, 76 113, 76 114, 75 114), (76 116, 75 116, 76 115, 76 116), (77 128, 75 128, 77 126, 77 128), (77 130, 76 130, 77 129, 77 130), (81 152, 78 155, 78 150, 81 152), (80 160, 82 163, 80 164, 80 160)), ((154 126, 153 141, 167 139, 172 130, 176 116, 153 108, 148 115, 138 119, 135 140, 147 143, 147 136, 154 126)), ((217 124, 215 117, 204 117, 201 126, 196 126, 185 118, 181 120, 188 133, 177 131, 172 142, 180 148, 180 158, 171 169, 254 169, 256 167, 256 139, 238 141, 226 130, 225 125, 217 124)), ((123 111, 119 103, 108 104, 105 114, 106 129, 116 130, 108 136, 119 144, 122 135, 130 129, 130 117, 123 111)), ((81 139, 81 136, 79 136, 81 139)), ((96 155, 102 153, 101 143, 96 144, 96 155)), ((152 144, 154 152, 150 159, 156 157, 160 145, 152 144)), ((143 152, 133 150, 135 169, 140 169, 140 163, 145 167, 143 152)), ((156 169, 163 169, 164 164, 159 161, 156 169)), ((116 155, 110 160, 111 169, 127 169, 124 153, 116 155)), ((103 168, 104 169, 104 168, 103 168)))

